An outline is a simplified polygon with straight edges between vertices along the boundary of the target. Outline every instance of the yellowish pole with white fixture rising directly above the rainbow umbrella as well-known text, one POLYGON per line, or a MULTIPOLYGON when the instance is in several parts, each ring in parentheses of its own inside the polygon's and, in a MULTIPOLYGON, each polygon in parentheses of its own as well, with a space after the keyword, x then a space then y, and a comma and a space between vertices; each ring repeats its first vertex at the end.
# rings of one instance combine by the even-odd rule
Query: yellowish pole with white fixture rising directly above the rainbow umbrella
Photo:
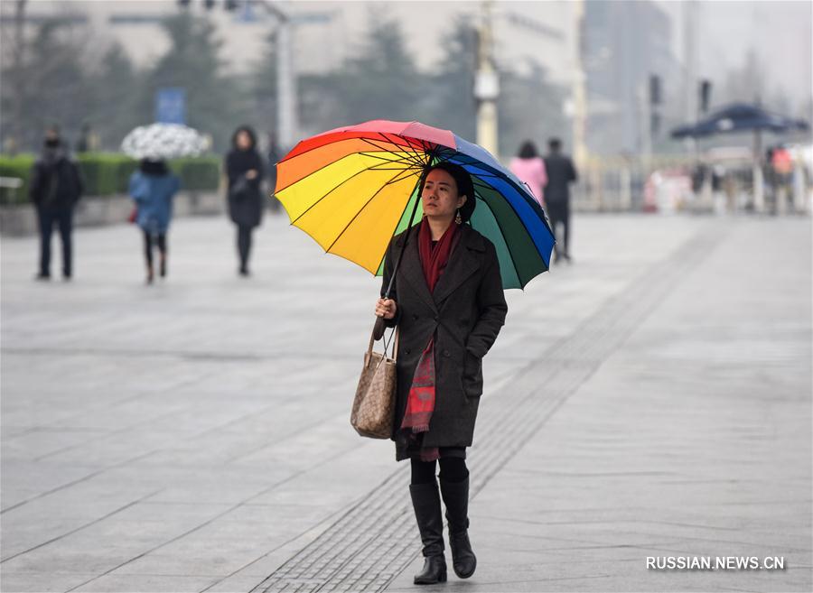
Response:
POLYGON ((497 97, 500 97, 500 79, 494 63, 494 37, 491 27, 491 0, 481 4, 481 22, 478 28, 477 73, 474 79, 474 98, 477 101, 477 144, 499 156, 497 129, 497 97))

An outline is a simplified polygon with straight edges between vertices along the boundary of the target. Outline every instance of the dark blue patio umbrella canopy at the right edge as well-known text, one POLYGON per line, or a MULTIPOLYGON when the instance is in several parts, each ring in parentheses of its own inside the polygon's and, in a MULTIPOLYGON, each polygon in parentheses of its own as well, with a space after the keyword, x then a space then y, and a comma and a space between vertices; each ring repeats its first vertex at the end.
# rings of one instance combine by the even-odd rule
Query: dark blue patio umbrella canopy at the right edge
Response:
POLYGON ((713 134, 731 134, 734 132, 768 132, 782 133, 796 130, 807 130, 808 124, 800 119, 780 116, 766 111, 756 105, 734 103, 715 111, 695 125, 680 125, 671 132, 673 138, 698 138, 713 134))

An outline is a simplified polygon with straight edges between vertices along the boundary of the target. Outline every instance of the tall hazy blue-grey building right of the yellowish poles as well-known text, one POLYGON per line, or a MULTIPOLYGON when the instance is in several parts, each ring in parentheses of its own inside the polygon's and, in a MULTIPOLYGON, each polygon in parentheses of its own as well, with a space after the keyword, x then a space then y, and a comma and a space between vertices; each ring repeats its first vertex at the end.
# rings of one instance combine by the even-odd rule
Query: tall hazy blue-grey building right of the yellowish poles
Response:
MULTIPOLYGON (((587 144, 591 153, 640 153, 649 133, 650 76, 659 78, 661 100, 677 97, 680 64, 673 23, 647 2, 588 0, 582 28, 587 91, 587 144)), ((657 109, 656 109, 657 111, 657 109)), ((657 117, 655 127, 658 127, 657 117)), ((663 125, 653 140, 663 134, 663 125)))

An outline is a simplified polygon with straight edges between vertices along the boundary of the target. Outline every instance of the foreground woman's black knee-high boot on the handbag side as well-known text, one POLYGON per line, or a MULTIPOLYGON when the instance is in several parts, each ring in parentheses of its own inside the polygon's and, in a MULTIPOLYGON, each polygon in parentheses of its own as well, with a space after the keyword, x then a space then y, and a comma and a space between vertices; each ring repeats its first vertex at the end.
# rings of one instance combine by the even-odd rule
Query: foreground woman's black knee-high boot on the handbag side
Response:
POLYGON ((415 575, 416 585, 434 585, 446 580, 444 557, 444 517, 441 513, 437 482, 409 486, 412 507, 421 542, 424 544, 424 570, 415 575))

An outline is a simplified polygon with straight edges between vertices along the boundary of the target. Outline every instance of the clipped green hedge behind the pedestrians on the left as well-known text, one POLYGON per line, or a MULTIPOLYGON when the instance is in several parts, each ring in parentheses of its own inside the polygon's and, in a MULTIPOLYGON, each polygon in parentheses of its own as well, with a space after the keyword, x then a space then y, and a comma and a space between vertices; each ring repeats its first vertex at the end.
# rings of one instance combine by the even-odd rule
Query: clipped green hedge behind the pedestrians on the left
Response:
MULTIPOLYGON (((0 155, 0 177, 23 180, 23 187, 14 191, 0 190, 0 204, 22 204, 28 201, 28 180, 35 160, 33 154, 13 157, 0 155)), ((130 175, 138 162, 120 153, 83 153, 77 158, 85 196, 111 196, 127 191, 130 175)), ((220 185, 220 158, 200 156, 175 159, 169 162, 173 172, 181 178, 182 190, 217 190, 220 185)))

